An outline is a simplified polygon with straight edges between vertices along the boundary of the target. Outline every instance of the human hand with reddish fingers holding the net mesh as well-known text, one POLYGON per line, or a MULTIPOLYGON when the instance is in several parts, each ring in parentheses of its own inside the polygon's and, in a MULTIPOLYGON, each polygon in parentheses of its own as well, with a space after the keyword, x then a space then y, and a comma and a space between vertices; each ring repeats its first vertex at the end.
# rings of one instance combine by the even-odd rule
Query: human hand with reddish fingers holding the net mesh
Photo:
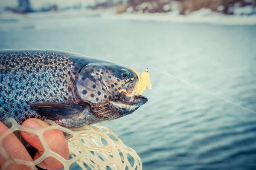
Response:
MULTIPOLYGON (((26 119, 22 126, 30 127, 32 129, 41 129, 44 127, 50 126, 46 122, 40 119, 26 119)), ((0 122, 0 136, 3 135, 8 130, 8 127, 0 122)), ((37 135, 33 133, 28 133, 21 131, 22 137, 38 151, 33 158, 29 155, 26 148, 20 142, 19 139, 15 136, 14 133, 10 134, 3 140, 3 147, 6 150, 6 153, 12 159, 22 159, 26 161, 33 161, 38 159, 44 153, 44 147, 42 146, 40 139, 37 135)), ((60 130, 49 130, 44 133, 44 137, 49 145, 50 149, 55 153, 58 153, 64 159, 69 158, 69 150, 67 140, 65 139, 64 134, 60 130)), ((0 154, 0 168, 3 167, 5 159, 0 154)), ((38 167, 44 169, 61 169, 63 164, 53 157, 47 157, 44 161, 40 162, 38 167)), ((23 164, 11 164, 7 167, 7 170, 30 170, 30 168, 23 164)))

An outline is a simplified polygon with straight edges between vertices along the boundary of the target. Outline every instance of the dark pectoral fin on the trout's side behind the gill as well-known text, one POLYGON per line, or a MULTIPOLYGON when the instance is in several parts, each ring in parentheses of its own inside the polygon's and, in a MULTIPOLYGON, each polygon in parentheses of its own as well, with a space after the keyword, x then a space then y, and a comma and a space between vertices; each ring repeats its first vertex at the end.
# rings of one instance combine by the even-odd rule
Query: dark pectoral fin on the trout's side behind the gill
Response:
POLYGON ((80 105, 57 102, 32 102, 29 105, 40 116, 51 120, 72 119, 74 114, 79 114, 85 109, 80 105))

